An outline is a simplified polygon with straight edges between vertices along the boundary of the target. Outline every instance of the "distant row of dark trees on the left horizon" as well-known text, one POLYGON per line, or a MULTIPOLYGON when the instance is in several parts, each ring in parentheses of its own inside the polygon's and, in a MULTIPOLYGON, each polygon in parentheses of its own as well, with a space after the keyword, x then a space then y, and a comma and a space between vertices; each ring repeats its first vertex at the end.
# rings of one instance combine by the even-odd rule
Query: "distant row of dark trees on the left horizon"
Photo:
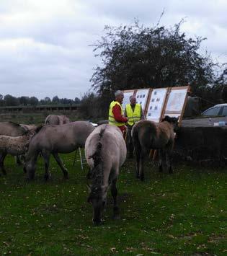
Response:
POLYGON ((14 97, 10 94, 5 96, 0 94, 0 107, 7 106, 37 106, 37 105, 73 105, 79 104, 81 100, 78 97, 75 97, 74 100, 67 98, 59 98, 58 96, 53 97, 51 100, 50 97, 45 97, 43 100, 38 100, 37 97, 14 97))

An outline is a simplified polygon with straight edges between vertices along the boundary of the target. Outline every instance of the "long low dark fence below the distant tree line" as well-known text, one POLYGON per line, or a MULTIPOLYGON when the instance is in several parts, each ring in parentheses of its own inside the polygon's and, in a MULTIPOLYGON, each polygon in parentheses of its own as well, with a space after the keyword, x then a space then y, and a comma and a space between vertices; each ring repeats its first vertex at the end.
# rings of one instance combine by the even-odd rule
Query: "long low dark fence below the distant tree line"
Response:
POLYGON ((0 107, 1 113, 18 112, 77 112, 80 104, 76 105, 37 105, 0 107))

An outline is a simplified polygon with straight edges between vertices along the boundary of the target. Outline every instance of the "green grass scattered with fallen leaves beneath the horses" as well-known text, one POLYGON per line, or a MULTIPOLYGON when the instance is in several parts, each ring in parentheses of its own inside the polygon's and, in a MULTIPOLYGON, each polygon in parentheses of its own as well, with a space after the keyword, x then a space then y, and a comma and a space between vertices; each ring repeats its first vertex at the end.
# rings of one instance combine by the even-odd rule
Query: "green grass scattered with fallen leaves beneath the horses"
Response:
POLYGON ((36 177, 26 182, 22 167, 6 158, 0 177, 0 255, 226 255, 226 172, 184 164, 173 175, 146 166, 146 180, 134 177, 127 160, 117 183, 121 219, 112 220, 108 196, 104 224, 93 226, 86 203, 86 171, 74 154, 62 155, 69 171, 51 160, 44 182, 39 159, 36 177))

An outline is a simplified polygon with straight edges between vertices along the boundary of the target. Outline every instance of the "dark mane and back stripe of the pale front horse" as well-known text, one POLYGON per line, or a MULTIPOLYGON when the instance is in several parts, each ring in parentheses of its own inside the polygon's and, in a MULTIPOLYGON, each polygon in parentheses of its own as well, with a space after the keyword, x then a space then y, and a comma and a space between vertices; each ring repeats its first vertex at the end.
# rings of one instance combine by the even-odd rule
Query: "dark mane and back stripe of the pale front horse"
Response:
POLYGON ((94 160, 94 167, 91 170, 91 178, 92 178, 92 191, 89 195, 89 198, 91 197, 99 197, 102 193, 102 177, 103 177, 103 169, 102 169, 102 137, 104 133, 105 128, 103 128, 99 134, 98 134, 98 142, 96 150, 94 151, 94 154, 92 156, 89 156, 89 159, 94 160))

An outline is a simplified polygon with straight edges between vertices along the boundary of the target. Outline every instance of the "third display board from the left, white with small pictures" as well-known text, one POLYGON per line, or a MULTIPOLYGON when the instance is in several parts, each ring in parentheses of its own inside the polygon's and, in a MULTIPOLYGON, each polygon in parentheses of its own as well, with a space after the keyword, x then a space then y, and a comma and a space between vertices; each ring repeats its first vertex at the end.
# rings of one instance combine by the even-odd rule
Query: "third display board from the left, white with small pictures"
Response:
POLYGON ((151 92, 146 119, 159 123, 168 88, 157 88, 151 92))

